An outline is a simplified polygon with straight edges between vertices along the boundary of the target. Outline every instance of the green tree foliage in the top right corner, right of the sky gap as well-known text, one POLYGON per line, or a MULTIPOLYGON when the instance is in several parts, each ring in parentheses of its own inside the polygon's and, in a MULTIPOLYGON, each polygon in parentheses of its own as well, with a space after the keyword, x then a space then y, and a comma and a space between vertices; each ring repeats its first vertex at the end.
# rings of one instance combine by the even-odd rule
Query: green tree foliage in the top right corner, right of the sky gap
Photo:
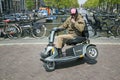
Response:
POLYGON ((112 12, 114 8, 119 10, 120 0, 87 0, 84 7, 103 8, 105 11, 112 12))

